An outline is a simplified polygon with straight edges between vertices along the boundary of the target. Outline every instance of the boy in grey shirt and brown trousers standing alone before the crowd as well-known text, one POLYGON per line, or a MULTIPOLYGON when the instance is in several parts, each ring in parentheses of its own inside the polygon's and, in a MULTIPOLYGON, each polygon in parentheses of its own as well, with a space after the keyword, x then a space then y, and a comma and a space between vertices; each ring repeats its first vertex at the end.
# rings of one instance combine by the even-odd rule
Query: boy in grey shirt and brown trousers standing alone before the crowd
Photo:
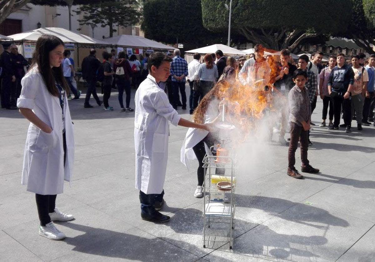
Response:
POLYGON ((307 81, 305 70, 297 69, 293 74, 293 82, 296 84, 289 92, 289 121, 290 121, 290 145, 288 150, 288 176, 302 179, 303 176, 296 170, 296 150, 298 141, 301 143, 301 171, 305 173, 319 173, 319 169, 312 167, 307 159, 309 148, 308 131, 311 122, 311 104, 309 90, 305 87, 307 81))

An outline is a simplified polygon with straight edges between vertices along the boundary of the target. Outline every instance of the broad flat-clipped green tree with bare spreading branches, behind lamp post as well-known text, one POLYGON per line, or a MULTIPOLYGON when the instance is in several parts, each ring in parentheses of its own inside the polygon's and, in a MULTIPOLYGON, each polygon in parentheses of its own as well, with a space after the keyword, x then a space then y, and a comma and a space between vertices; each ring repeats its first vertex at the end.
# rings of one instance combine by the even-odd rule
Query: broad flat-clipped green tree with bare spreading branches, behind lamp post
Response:
MULTIPOLYGON (((228 28, 225 4, 229 5, 229 0, 202 0, 206 28, 228 28)), ((252 43, 293 51, 302 40, 342 30, 350 10, 350 0, 233 0, 232 29, 252 43)))

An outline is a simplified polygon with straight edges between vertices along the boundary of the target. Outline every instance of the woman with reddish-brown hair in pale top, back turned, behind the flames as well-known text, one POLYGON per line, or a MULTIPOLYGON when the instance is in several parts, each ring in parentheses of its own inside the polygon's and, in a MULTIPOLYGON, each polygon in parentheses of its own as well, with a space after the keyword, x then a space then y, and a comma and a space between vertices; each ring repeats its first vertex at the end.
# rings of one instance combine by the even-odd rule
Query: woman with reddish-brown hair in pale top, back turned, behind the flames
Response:
POLYGON ((217 66, 214 64, 211 54, 206 54, 204 63, 199 66, 199 70, 194 75, 194 79, 199 79, 199 101, 210 91, 218 78, 217 66))

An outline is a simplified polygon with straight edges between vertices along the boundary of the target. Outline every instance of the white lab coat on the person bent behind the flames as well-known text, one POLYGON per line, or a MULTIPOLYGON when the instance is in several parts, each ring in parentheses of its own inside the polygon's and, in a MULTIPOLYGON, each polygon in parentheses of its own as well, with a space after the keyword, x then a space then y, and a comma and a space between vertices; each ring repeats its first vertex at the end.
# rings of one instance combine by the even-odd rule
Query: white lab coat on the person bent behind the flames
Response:
MULTIPOLYGON (((205 114, 204 124, 211 123, 219 115, 219 103, 218 99, 214 99, 210 102, 207 112, 205 114)), ((208 135, 208 131, 198 129, 198 128, 189 128, 186 132, 185 140, 182 143, 180 151, 180 161, 184 164, 187 169, 190 166, 190 160, 196 159, 193 147, 203 140, 208 135)), ((209 148, 207 144, 204 144, 206 153, 209 153, 209 148)))

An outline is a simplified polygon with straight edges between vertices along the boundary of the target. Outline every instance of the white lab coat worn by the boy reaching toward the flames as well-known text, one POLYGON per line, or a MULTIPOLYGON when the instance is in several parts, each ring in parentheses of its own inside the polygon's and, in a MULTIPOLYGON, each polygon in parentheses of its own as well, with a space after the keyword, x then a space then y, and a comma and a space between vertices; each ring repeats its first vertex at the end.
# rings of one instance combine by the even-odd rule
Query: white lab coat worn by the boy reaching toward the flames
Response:
POLYGON ((135 92, 135 188, 145 194, 163 191, 168 160, 168 121, 178 125, 181 116, 150 74, 135 92))

